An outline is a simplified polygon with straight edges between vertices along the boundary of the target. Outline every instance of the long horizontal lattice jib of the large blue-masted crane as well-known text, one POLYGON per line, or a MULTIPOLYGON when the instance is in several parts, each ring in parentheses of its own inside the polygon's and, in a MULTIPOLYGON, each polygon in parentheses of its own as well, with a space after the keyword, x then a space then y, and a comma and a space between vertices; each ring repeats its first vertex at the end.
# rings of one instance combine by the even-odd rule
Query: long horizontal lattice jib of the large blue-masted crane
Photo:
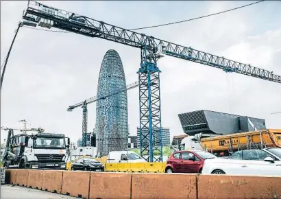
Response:
MULTIPOLYGON (((36 1, 29 1, 27 10, 23 12, 23 19, 36 23, 41 22, 41 19, 46 19, 47 21, 49 20, 49 22, 45 21, 45 23, 50 23, 51 25, 46 25, 44 23, 45 27, 52 26, 60 30, 90 37, 103 38, 140 49, 146 48, 154 52, 154 54, 173 56, 175 58, 223 69, 223 71, 241 73, 254 78, 281 83, 281 76, 273 74, 271 71, 198 51, 192 47, 184 47, 182 45, 170 43, 154 38, 153 36, 125 30, 124 28, 90 19, 86 16, 67 12, 58 8, 52 8, 36 1)), ((40 25, 40 23, 38 23, 38 25, 40 25)))

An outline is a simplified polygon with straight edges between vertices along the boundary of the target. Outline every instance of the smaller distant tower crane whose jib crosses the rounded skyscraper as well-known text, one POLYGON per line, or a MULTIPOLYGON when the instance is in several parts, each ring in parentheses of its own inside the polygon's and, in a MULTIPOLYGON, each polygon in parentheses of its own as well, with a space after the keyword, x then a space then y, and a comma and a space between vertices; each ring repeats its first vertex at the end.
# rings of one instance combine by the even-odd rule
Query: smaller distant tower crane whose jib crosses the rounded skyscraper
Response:
POLYGON ((127 88, 125 89, 121 89, 120 91, 117 91, 116 93, 111 93, 102 97, 90 97, 86 100, 84 100, 83 102, 74 104, 72 106, 69 106, 69 108, 67 108, 67 111, 72 111, 74 108, 77 107, 82 107, 83 108, 83 118, 82 118, 82 146, 86 146, 86 134, 88 132, 88 108, 87 105, 91 104, 93 102, 97 102, 98 100, 103 100, 106 99, 107 97, 110 97, 112 95, 117 95, 119 93, 125 92, 125 91, 129 91, 130 89, 134 89, 138 87, 138 82, 134 82, 132 84, 128 84, 127 88))

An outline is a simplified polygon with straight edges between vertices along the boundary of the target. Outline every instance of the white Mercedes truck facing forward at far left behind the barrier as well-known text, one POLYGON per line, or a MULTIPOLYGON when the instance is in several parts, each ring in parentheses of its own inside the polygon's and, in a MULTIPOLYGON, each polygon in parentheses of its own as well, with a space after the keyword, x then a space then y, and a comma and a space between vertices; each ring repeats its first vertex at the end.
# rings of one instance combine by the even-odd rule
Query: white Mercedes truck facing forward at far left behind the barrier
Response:
POLYGON ((66 169, 66 154, 70 139, 64 134, 45 133, 41 128, 25 129, 25 133, 14 135, 12 128, 3 153, 3 165, 20 169, 66 169), (27 131, 38 131, 27 134, 27 131))

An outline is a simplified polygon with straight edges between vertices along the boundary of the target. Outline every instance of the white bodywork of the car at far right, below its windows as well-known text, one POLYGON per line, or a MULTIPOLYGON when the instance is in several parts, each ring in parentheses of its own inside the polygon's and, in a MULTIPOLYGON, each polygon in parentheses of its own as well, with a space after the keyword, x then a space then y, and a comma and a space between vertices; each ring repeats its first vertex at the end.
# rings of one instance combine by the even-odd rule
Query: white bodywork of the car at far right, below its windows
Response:
MULTIPOLYGON (((201 174, 235 174, 235 175, 270 175, 281 176, 280 148, 274 149, 276 153, 267 152, 265 159, 209 159, 204 161, 201 174)), ((271 150, 272 151, 272 150, 271 150)))

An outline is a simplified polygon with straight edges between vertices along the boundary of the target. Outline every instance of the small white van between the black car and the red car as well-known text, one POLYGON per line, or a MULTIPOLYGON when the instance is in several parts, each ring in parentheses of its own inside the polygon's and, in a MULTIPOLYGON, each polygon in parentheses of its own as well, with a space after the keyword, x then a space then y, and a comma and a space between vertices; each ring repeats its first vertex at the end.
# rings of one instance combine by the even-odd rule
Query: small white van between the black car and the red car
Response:
POLYGON ((108 163, 146 163, 138 154, 131 151, 112 151, 108 154, 108 163))

